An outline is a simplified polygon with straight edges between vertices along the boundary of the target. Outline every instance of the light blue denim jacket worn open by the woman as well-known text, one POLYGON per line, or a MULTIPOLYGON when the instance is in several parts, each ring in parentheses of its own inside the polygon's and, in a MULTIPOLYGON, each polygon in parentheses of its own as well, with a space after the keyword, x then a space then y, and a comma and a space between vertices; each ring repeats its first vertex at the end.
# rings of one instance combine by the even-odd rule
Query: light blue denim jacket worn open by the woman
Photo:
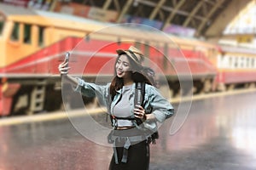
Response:
MULTIPOLYGON (((113 101, 109 93, 110 83, 107 85, 97 85, 91 82, 84 82, 81 78, 78 78, 79 84, 75 88, 75 91, 87 97, 97 97, 99 103, 107 107, 108 114, 113 113, 113 106, 117 104, 122 94, 122 89, 117 91, 113 101)), ((134 109, 134 94, 135 94, 135 83, 132 85, 132 94, 129 99, 131 115, 134 109)), ((146 84, 144 94, 144 110, 146 113, 153 113, 158 122, 164 122, 166 118, 169 118, 174 114, 172 105, 159 93, 157 88, 146 84)), ((145 121, 143 122, 144 127, 149 130, 156 131, 157 123, 145 121)))

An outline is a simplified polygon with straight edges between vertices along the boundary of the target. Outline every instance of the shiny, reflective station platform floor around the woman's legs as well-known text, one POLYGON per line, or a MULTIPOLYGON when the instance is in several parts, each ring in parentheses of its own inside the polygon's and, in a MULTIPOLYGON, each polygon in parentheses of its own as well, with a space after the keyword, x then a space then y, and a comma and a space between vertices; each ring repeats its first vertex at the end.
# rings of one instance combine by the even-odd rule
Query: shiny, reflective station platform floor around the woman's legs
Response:
MULTIPOLYGON (((256 169, 255 101, 256 92, 193 100, 177 133, 170 134, 172 118, 160 126, 149 169, 256 169)), ((0 139, 0 170, 104 170, 113 154, 63 117, 2 125, 0 139)))

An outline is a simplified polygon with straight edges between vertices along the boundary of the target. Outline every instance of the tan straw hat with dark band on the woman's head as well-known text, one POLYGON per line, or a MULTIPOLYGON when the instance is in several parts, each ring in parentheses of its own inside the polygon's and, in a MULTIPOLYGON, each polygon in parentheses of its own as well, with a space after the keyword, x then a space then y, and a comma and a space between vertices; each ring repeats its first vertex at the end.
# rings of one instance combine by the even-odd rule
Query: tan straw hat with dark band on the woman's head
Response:
POLYGON ((133 46, 131 46, 129 49, 117 49, 116 53, 119 55, 127 54, 127 56, 134 60, 137 65, 143 64, 143 53, 133 46))

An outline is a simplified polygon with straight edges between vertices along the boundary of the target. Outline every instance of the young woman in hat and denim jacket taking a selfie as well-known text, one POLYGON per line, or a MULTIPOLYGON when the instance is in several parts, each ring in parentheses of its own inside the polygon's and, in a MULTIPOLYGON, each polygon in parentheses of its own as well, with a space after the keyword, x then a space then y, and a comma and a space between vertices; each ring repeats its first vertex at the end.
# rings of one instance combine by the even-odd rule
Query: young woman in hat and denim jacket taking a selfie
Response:
POLYGON ((164 122, 173 115, 173 107, 157 88, 152 86, 143 67, 143 54, 137 48, 117 50, 113 81, 105 86, 84 82, 67 75, 67 60, 59 65, 61 75, 85 96, 96 96, 108 108, 113 131, 108 141, 113 143, 113 157, 109 169, 140 169, 149 167, 149 143, 157 131, 156 122, 164 122), (145 84, 142 105, 135 104, 137 84, 145 84))

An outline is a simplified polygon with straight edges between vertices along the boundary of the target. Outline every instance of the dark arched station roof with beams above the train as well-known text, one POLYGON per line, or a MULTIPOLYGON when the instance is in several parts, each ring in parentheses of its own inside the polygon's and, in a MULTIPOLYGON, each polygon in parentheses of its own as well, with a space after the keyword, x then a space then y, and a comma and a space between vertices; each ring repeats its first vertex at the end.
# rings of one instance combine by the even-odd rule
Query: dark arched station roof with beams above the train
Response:
POLYGON ((222 37, 225 27, 253 0, 72 0, 125 14, 195 29, 195 37, 222 37))

